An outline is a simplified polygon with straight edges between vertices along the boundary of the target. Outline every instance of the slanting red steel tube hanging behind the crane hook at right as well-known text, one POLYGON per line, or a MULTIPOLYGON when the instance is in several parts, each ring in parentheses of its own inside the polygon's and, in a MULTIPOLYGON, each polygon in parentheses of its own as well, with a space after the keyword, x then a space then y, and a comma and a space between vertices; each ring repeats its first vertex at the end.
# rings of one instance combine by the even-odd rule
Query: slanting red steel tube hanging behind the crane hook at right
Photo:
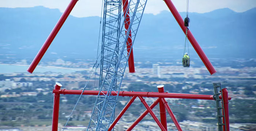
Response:
MULTIPOLYGON (((184 26, 184 21, 181 18, 180 14, 178 13, 177 9, 175 8, 175 6, 173 5, 171 0, 164 0, 166 5, 168 6, 168 8, 170 9, 170 11, 172 12, 174 18, 177 20, 178 24, 180 25, 181 29, 183 30, 183 32, 186 34, 186 30, 187 27, 184 26)), ((214 67, 212 66, 211 62, 209 61, 209 59, 206 57, 206 55, 204 54, 204 51, 201 49, 201 47, 199 46, 199 44, 197 43, 196 39, 194 38, 194 36, 192 35, 191 31, 188 30, 188 40, 190 41, 191 45, 194 47, 194 49, 196 50, 196 53, 199 55, 199 57, 202 59, 204 65, 206 66, 206 68, 208 69, 208 71, 210 72, 210 74, 214 74, 216 73, 216 70, 214 69, 214 67)))

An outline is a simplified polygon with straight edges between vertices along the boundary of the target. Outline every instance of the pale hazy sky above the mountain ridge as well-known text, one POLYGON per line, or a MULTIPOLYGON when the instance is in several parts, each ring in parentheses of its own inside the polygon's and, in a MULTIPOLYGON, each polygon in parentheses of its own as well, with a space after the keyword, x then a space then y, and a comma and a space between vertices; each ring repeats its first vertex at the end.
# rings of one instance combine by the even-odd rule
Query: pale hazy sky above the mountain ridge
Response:
MULTIPOLYGON (((179 12, 186 11, 186 0, 172 0, 179 12)), ((58 8, 64 12, 70 0, 0 0, 0 7, 34 7, 42 5, 47 8, 58 8)), ((79 0, 71 15, 76 17, 100 16, 102 0, 79 0)), ((230 8, 236 12, 244 12, 256 7, 256 0, 189 0, 189 12, 210 12, 220 8, 230 8)), ((145 12, 158 14, 168 10, 163 0, 148 0, 145 12)))

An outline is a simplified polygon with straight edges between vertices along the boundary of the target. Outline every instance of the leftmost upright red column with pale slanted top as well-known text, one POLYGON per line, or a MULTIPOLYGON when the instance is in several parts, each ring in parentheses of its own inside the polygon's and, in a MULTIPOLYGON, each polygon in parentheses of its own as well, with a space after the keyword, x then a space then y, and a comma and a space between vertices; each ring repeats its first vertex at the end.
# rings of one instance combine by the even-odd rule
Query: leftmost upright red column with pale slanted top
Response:
MULTIPOLYGON (((62 85, 59 82, 55 83, 54 89, 60 90, 62 85)), ((52 131, 58 131, 59 120, 60 93, 54 93, 53 112, 52 112, 52 131)))

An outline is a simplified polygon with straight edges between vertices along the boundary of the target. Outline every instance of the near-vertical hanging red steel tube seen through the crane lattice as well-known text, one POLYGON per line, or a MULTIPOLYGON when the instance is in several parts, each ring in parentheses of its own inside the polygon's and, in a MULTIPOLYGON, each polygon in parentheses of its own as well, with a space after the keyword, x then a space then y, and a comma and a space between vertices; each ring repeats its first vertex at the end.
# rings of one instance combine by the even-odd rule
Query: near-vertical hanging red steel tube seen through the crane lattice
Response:
MULTIPOLYGON (((125 35, 127 35, 127 30, 130 25, 130 14, 129 14, 129 8, 128 8, 128 0, 123 0, 123 11, 124 11, 124 17, 125 17, 125 35), (127 12, 127 14, 126 14, 127 12), (126 16, 125 16, 126 14, 126 16)), ((131 50, 132 46, 132 34, 131 31, 129 31, 128 39, 126 42, 127 45, 127 55, 129 55, 129 52, 131 50)), ((130 57, 128 59, 128 65, 129 65, 129 73, 135 73, 135 67, 134 67, 134 59, 133 59, 133 50, 131 50, 130 57)))

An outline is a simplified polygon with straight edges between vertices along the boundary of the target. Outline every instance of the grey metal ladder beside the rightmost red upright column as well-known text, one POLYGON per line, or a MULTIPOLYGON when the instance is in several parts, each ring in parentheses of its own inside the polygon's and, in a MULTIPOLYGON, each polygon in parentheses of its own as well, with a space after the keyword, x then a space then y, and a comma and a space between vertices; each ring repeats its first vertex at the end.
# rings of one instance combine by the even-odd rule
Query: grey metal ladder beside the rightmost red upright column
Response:
POLYGON ((222 89, 221 89, 221 83, 214 83, 214 100, 216 101, 217 105, 217 115, 218 115, 218 128, 219 131, 223 131, 223 126, 225 127, 226 131, 226 123, 225 123, 225 109, 223 106, 223 97, 222 97, 222 89), (221 95, 221 99, 219 99, 219 96, 221 95))

